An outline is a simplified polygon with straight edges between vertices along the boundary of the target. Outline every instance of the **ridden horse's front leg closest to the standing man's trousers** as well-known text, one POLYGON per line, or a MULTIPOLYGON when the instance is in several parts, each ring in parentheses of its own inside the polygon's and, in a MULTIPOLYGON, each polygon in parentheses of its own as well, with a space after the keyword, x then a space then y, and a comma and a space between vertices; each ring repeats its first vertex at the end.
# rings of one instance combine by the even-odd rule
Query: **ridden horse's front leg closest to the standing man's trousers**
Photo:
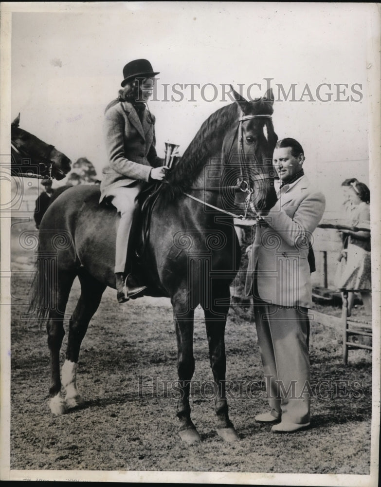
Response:
POLYGON ((226 399, 226 354, 225 326, 230 306, 230 292, 212 293, 210 305, 203 303, 206 335, 208 337, 210 366, 216 383, 215 411, 218 418, 217 432, 225 441, 237 441, 239 436, 229 419, 229 407, 226 399))

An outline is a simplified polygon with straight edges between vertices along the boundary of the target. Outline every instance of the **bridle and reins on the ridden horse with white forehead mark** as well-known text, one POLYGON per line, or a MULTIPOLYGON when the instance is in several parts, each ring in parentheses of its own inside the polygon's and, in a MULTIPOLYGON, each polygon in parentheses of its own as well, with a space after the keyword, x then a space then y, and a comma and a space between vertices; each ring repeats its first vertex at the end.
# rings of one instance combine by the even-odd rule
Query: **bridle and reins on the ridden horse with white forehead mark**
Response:
MULTIPOLYGON (((238 178, 238 181, 240 181, 240 184, 237 184, 234 186, 219 186, 219 187, 197 187, 197 186, 190 186, 189 187, 189 189, 196 190, 196 191, 220 191, 221 189, 231 189, 231 190, 235 190, 235 191, 240 190, 244 193, 247 193, 247 196, 245 198, 244 214, 243 215, 236 215, 234 213, 231 213, 230 211, 224 210, 222 208, 218 208, 218 206, 211 205, 210 203, 207 203, 206 201, 201 200, 200 198, 197 198, 196 196, 193 196, 192 194, 189 194, 189 193, 183 193, 185 196, 187 196, 188 198, 191 198, 192 200, 198 201, 199 203, 202 203, 202 205, 204 205, 204 206, 208 206, 210 208, 218 210, 218 211, 225 213, 229 216, 232 216, 233 218, 236 218, 238 220, 245 220, 246 219, 246 215, 247 215, 247 212, 248 212, 248 209, 250 206, 251 196, 254 192, 254 183, 256 181, 263 181, 266 179, 272 179, 271 176, 266 176, 264 174, 258 174, 256 176, 254 176, 254 178, 252 178, 253 184, 251 186, 249 181, 247 181, 244 178, 243 164, 244 164, 245 151, 244 151, 244 147, 243 147, 242 124, 243 124, 243 122, 246 122, 247 120, 252 120, 253 118, 269 118, 270 120, 272 120, 271 115, 243 115, 238 119, 238 122, 239 122, 238 127, 236 130, 236 134, 234 135, 234 137, 232 139, 232 144, 231 144, 229 152, 228 152, 227 160, 228 161, 230 160, 230 155, 231 155, 231 152, 233 149, 234 141, 237 140, 237 153, 238 153, 238 157, 239 157, 239 172, 240 172, 240 177, 238 178)), ((258 162, 256 157, 255 157, 255 154, 254 154, 254 159, 256 162, 258 162)), ((260 216, 258 216, 258 215, 256 216, 256 220, 259 220, 260 218, 261 218, 260 216)))

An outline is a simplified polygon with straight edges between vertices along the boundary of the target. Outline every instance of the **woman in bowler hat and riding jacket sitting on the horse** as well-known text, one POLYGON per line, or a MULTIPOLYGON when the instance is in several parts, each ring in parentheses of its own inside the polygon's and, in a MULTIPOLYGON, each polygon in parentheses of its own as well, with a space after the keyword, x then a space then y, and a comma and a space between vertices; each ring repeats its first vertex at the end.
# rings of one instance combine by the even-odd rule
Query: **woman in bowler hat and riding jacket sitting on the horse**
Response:
POLYGON ((165 177, 163 160, 155 149, 155 117, 146 103, 154 84, 152 66, 146 59, 136 59, 123 68, 124 79, 119 96, 106 108, 104 129, 109 166, 103 169, 101 199, 106 198, 120 212, 116 235, 115 280, 117 300, 143 291, 129 275, 124 288, 127 243, 135 211, 135 199, 145 181, 161 181, 165 177))

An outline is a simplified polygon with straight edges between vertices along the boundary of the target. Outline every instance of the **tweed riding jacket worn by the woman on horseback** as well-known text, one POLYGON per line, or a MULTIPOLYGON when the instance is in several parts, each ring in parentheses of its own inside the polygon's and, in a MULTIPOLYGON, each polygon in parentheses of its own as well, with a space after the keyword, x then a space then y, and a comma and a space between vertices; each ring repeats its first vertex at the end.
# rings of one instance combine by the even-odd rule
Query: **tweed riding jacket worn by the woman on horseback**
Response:
POLYGON ((162 159, 155 149, 155 117, 143 112, 142 122, 133 105, 119 101, 106 110, 104 135, 109 166, 102 171, 101 199, 108 190, 130 186, 135 181, 148 181, 152 167, 162 159))

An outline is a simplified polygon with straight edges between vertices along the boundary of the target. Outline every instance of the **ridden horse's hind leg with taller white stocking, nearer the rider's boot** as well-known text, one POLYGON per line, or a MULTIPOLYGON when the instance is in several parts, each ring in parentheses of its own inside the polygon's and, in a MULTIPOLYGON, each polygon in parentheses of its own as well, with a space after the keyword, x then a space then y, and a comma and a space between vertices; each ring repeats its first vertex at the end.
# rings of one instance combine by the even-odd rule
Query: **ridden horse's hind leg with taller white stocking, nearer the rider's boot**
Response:
POLYGON ((62 388, 65 393, 66 406, 69 408, 84 405, 84 400, 76 385, 79 350, 89 322, 98 309, 102 294, 106 289, 105 284, 92 278, 83 267, 79 269, 78 278, 81 283, 81 296, 69 320, 68 348, 62 366, 62 388))

